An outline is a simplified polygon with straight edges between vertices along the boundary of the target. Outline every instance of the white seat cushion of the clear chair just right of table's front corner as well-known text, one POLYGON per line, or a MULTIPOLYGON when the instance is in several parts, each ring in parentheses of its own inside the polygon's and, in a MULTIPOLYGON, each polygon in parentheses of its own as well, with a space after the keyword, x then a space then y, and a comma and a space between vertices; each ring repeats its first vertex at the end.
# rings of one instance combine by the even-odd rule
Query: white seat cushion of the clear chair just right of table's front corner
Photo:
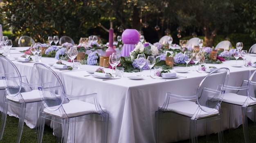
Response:
MULTIPOLYGON (((160 106, 159 108, 161 108, 161 107, 162 106, 160 106)), ((187 117, 193 117, 193 115, 195 114, 195 112, 198 108, 199 108, 199 106, 195 102, 184 101, 184 102, 175 102, 175 103, 168 104, 166 111, 177 113, 177 114, 184 115, 187 117)), ((204 107, 204 108, 207 109, 208 107, 204 107)), ((209 108, 209 109, 211 109, 211 108, 209 108)), ((213 110, 212 112, 201 111, 200 115, 198 116, 198 119, 202 119, 205 117, 211 117, 211 116, 218 115, 218 114, 219 114, 219 111, 217 109, 213 110)))

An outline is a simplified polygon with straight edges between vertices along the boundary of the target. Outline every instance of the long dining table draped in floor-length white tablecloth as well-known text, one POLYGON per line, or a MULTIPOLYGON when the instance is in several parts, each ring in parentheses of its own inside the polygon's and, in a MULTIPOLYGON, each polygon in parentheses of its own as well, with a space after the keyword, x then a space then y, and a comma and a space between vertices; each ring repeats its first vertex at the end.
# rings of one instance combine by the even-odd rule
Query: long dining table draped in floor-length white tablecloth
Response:
MULTIPOLYGON (((16 61, 15 58, 23 55, 19 51, 25 48, 13 48, 9 59, 17 66, 22 76, 27 76, 30 83, 36 82, 34 74, 34 61, 23 63, 16 61)), ((2 50, 0 49, 0 53, 2 50)), ((32 56, 33 57, 33 56, 32 56)), ((256 56, 248 56, 252 62, 256 62, 256 56)), ((96 65, 81 65, 80 69, 74 70, 59 70, 51 65, 56 63, 56 59, 43 57, 42 62, 48 65, 61 78, 65 92, 69 95, 85 95, 97 93, 99 103, 106 108, 109 113, 108 124, 108 143, 155 143, 155 111, 158 110, 164 102, 167 92, 177 95, 196 95, 198 85, 208 73, 195 71, 195 66, 188 67, 189 72, 177 73, 176 78, 163 79, 157 77, 150 78, 150 70, 142 71, 144 78, 141 80, 131 80, 129 76, 137 76, 138 73, 124 73, 124 77, 115 80, 102 80, 90 75, 88 71, 96 70, 99 66, 96 65), (88 76, 90 75, 90 76, 88 76)), ((66 65, 71 65, 70 62, 63 61, 66 65)), ((248 80, 250 74, 254 72, 256 67, 242 66, 233 67, 236 61, 224 61, 221 64, 206 64, 206 67, 215 66, 217 68, 227 67, 230 69, 230 77, 228 85, 240 86, 243 80, 248 80)), ((242 65, 243 60, 238 60, 238 64, 242 65)), ((186 67, 173 67, 170 72, 175 70, 185 69, 186 67)), ((104 68, 105 72, 112 72, 112 69, 104 68)), ((153 74, 153 70, 151 72, 153 74)), ((45 77, 47 78, 47 77, 45 77)), ((232 91, 226 91, 232 92, 232 91)), ((233 91, 234 92, 234 91, 233 91)), ((176 102, 173 100, 172 102, 176 102)), ((223 105, 225 106, 225 105, 223 105)), ((29 111, 27 111, 29 112, 29 111)), ((229 128, 229 109, 222 108, 222 129, 229 128)), ((15 116, 13 110, 9 110, 9 115, 15 116)), ((29 116, 29 113, 26 113, 29 116)), ((17 116, 16 116, 17 117, 17 116)), ((27 126, 33 122, 29 119, 25 120, 27 126)), ((211 133, 216 133, 217 130, 211 126, 211 133)), ((235 112, 232 128, 237 128, 242 124, 241 112, 235 112)), ((205 125, 200 125, 204 127, 205 125)), ((86 124, 84 122, 76 125, 76 142, 100 142, 95 134, 99 131, 91 130, 90 127, 95 127, 94 124, 86 124), (83 135, 84 132, 89 132, 89 136, 83 135)), ((54 127, 53 127, 54 128, 54 127)), ((97 128, 97 127, 96 127, 97 128)), ((189 139, 189 123, 184 124, 180 121, 164 120, 162 127, 162 142, 175 142, 189 139)), ((205 135, 204 128, 198 128, 198 135, 205 135)), ((225 137, 224 137, 225 138, 225 137)))

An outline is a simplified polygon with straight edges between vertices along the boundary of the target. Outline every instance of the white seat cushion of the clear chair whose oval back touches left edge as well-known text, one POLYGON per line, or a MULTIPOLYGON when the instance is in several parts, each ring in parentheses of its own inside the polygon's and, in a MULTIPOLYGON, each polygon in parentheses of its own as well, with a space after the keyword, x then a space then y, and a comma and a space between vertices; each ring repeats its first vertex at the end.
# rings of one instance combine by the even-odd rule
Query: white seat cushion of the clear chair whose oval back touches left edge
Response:
MULTIPOLYGON (((42 101, 38 90, 22 92, 20 94, 26 103, 42 101)), ((7 95, 6 98, 13 102, 20 102, 20 99, 18 99, 18 96, 11 97, 11 96, 7 95)))

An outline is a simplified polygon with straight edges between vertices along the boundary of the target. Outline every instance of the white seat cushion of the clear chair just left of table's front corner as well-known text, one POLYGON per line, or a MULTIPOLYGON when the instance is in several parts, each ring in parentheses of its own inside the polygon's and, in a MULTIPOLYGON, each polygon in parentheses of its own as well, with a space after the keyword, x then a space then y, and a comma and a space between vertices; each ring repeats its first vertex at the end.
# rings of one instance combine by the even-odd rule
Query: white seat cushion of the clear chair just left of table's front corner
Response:
MULTIPOLYGON (((80 100, 71 100, 68 103, 62 104, 62 107, 67 114, 67 117, 69 118, 87 115, 90 113, 98 113, 94 104, 90 104, 88 102, 83 102, 80 100)), ((105 108, 102 108, 102 110, 106 112, 105 108)), ((50 115, 64 117, 63 114, 60 112, 60 109, 56 111, 49 111, 47 108, 45 108, 44 112, 50 115)))

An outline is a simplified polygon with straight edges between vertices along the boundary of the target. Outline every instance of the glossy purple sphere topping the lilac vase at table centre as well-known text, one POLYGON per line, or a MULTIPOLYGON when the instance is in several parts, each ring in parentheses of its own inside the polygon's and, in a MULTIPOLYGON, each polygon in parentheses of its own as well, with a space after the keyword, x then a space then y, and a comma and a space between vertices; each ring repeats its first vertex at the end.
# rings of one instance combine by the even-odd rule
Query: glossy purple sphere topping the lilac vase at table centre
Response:
POLYGON ((126 29, 122 33, 124 44, 137 44, 139 42, 139 32, 136 29, 126 29))

